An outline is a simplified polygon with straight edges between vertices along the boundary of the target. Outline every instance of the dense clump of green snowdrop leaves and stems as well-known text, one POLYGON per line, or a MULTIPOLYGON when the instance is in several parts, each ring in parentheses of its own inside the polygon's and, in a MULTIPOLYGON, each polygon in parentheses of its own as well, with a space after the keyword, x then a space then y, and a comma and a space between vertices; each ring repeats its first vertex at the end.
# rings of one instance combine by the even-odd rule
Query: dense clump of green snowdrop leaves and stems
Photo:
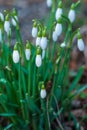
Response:
MULTIPOLYGON (((5 126, 1 125, 1 129, 51 130, 52 123, 55 120, 58 120, 58 129, 63 129, 62 116, 64 117, 65 113, 70 111, 73 98, 87 88, 87 85, 80 86, 78 84, 84 67, 78 70, 75 79, 72 83, 69 83, 72 41, 78 29, 73 32, 70 20, 62 15, 62 22, 67 25, 67 28, 65 24, 63 26, 65 47, 61 47, 57 43, 58 41, 53 42, 55 9, 56 6, 53 6, 50 18, 46 23, 48 46, 40 67, 35 64, 37 47, 30 42, 31 57, 29 61, 26 60, 25 47, 17 20, 15 20, 17 26, 12 26, 12 29, 16 32, 17 46, 15 49, 18 48, 20 52, 18 63, 14 63, 12 59, 11 37, 7 36, 6 43, 5 33, 2 30, 3 40, 0 44, 0 117, 7 118, 7 123, 5 126), (43 84, 47 92, 44 99, 40 96, 43 84)), ((9 14, 10 19, 14 18, 12 13, 6 12, 6 14, 9 14)), ((46 31, 42 22, 37 20, 34 22, 39 24, 41 31, 46 31)), ((36 23, 34 25, 36 26, 36 23)), ((42 53, 41 51, 39 50, 38 53, 42 53)), ((76 129, 79 129, 78 122, 72 113, 70 117, 73 118, 76 129)))

